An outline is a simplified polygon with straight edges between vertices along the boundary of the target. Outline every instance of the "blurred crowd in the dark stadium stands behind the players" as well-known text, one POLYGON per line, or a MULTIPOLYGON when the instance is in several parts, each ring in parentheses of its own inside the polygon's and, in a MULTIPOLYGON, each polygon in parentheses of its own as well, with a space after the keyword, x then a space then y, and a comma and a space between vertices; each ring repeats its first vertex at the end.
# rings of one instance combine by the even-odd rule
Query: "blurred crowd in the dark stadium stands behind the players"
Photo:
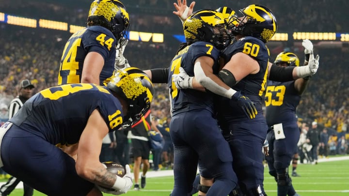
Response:
MULTIPOLYGON (((349 32, 347 19, 343 16, 347 11, 345 9, 349 7, 349 1, 341 1, 341 6, 330 0, 244 0, 234 1, 235 5, 231 5, 230 0, 221 1, 220 5, 214 1, 200 1, 195 9, 229 5, 238 10, 251 3, 262 3, 270 7, 277 16, 279 32, 349 32)), ((85 26, 89 2, 90 0, 63 0, 57 5, 50 0, 46 3, 39 0, 12 0, 2 2, 0 12, 31 18, 42 18, 45 15, 45 19, 85 26)), ((172 1, 127 0, 125 5, 130 13, 130 30, 182 34, 181 23, 172 14, 172 1)), ((30 79, 36 87, 35 92, 57 84, 63 47, 71 33, 4 23, 0 23, 0 32, 0 120, 5 121, 6 108, 17 95, 20 80, 30 79)), ((141 69, 168 67, 179 44, 175 41, 166 43, 166 40, 161 44, 130 41, 124 55, 131 66, 141 69)), ((278 50, 270 50, 273 61, 278 50)), ((286 43, 281 50, 295 52, 301 60, 304 59, 302 48, 294 47, 293 43, 286 43)), ((315 120, 319 126, 327 127, 330 133, 349 133, 349 78, 346 76, 349 53, 342 48, 320 49, 316 45, 315 53, 321 56, 320 66, 302 96, 297 112, 299 118, 305 122, 315 120)), ((170 116, 167 86, 161 84, 155 85, 155 88, 153 115, 165 120, 170 116)))

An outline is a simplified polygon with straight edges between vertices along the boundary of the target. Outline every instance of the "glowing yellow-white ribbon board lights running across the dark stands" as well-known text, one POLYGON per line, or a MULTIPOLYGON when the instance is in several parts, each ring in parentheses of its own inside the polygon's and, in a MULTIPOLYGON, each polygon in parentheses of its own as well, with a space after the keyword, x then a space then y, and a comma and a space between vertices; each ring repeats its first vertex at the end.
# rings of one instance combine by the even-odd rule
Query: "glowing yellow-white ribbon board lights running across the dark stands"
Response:
MULTIPOLYGON (((77 25, 68 25, 66 22, 46 20, 46 19, 36 19, 20 17, 15 15, 8 15, 0 12, 0 22, 4 22, 11 25, 18 25, 31 28, 47 28, 53 30, 65 30, 70 33, 75 33, 85 27, 77 25), (69 28, 68 28, 69 27, 69 28)), ((179 42, 185 42, 184 35, 172 35, 179 42)), ((291 33, 276 33, 270 41, 288 41, 292 37, 293 40, 318 40, 318 41, 342 41, 349 42, 349 33, 336 33, 336 32, 293 32, 291 33)), ((163 33, 152 33, 152 32, 139 32, 139 31, 129 31, 129 40, 132 41, 142 41, 142 42, 164 42, 163 33)))

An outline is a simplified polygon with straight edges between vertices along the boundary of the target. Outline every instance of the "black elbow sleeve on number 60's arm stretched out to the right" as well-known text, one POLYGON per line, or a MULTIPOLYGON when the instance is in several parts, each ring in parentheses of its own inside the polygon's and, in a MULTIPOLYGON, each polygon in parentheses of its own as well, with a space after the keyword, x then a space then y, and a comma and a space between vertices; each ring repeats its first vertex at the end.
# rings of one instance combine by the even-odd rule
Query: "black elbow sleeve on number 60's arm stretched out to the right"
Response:
POLYGON ((293 69, 295 67, 279 67, 273 65, 270 67, 269 79, 276 82, 288 82, 293 79, 293 69))

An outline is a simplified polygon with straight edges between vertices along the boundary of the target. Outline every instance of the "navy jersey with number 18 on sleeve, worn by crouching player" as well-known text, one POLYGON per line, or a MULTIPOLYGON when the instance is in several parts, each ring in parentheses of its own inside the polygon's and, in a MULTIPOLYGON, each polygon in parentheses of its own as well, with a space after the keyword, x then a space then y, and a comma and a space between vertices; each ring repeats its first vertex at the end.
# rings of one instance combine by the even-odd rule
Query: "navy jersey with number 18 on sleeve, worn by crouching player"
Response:
POLYGON ((95 109, 107 123, 109 132, 121 127, 124 114, 119 100, 106 87, 94 84, 67 84, 42 90, 10 121, 60 147, 79 142, 95 109))

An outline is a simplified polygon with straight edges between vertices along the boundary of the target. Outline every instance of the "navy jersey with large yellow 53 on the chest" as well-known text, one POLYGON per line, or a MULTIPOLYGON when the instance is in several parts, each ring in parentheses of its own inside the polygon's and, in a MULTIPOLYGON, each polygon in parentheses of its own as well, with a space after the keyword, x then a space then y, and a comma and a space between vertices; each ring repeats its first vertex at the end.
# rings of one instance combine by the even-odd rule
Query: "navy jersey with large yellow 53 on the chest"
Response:
POLYGON ((294 81, 274 82, 268 80, 265 93, 266 120, 268 126, 278 123, 296 123, 296 107, 301 95, 294 87, 294 81))

